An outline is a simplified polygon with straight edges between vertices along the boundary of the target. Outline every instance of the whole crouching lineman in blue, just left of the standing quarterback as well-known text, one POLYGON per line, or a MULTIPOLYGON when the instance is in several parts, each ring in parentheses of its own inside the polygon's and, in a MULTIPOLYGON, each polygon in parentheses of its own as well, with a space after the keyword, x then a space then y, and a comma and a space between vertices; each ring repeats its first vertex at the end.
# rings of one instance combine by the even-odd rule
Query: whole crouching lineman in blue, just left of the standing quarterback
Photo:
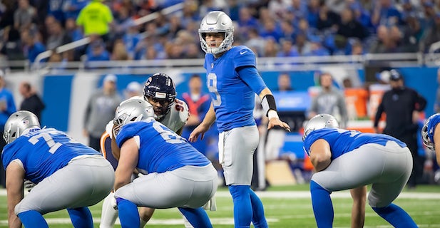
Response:
POLYGON ((154 118, 145 100, 128 100, 116 110, 113 135, 120 151, 115 198, 122 227, 139 227, 138 206, 178 207, 193 227, 212 227, 203 209, 217 190, 213 164, 187 140, 154 118), (145 175, 131 182, 137 170, 145 175))

